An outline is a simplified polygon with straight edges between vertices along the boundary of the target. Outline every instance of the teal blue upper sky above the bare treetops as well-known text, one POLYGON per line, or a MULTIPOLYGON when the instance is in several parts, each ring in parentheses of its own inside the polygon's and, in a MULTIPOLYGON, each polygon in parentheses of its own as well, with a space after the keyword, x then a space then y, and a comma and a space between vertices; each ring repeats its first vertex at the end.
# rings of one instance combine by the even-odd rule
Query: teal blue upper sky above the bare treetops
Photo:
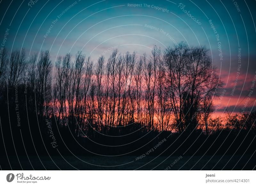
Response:
POLYGON ((212 20, 220 35, 225 59, 229 58, 229 53, 232 54, 233 51, 237 53, 237 48, 244 48, 243 52, 248 53, 249 45, 250 50, 255 50, 255 27, 252 19, 255 3, 238 2, 239 12, 232 1, 38 0, 34 1, 36 3, 31 7, 28 6, 29 2, 12 1, 11 4, 1 2, 3 9, 1 14, 10 5, 1 22, 1 33, 7 28, 10 29, 7 47, 13 45, 13 48, 24 47, 29 51, 31 48, 31 52, 51 49, 52 54, 60 50, 61 55, 82 49, 85 53, 94 56, 116 45, 123 52, 126 50, 147 52, 147 47, 151 48, 153 44, 161 48, 174 44, 161 32, 162 29, 176 42, 186 41, 189 45, 206 45, 215 52, 218 45, 208 22, 212 20), (185 5, 184 11, 190 11, 191 15, 202 24, 198 25, 182 11, 180 3, 185 5), (129 7, 128 4, 141 4, 142 7, 129 7), (144 4, 148 4, 149 7, 145 7, 144 4), (251 8, 248 9, 247 5, 251 8), (168 12, 156 10, 154 6, 165 8, 168 12), (55 19, 58 21, 44 38, 55 19), (157 31, 147 28, 145 24, 159 29, 157 31), (120 46, 124 44, 138 44, 138 46, 120 46))

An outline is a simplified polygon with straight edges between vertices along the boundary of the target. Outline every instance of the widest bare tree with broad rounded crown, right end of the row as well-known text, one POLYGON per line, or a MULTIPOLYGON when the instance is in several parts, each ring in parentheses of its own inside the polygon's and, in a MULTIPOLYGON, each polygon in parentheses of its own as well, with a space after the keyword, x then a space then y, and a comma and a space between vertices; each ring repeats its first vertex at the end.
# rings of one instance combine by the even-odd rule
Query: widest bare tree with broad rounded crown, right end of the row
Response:
POLYGON ((181 42, 175 48, 165 51, 168 68, 170 104, 179 131, 192 132, 198 124, 197 118, 191 119, 201 100, 206 95, 214 95, 219 78, 211 63, 208 50, 204 47, 188 48, 181 42))

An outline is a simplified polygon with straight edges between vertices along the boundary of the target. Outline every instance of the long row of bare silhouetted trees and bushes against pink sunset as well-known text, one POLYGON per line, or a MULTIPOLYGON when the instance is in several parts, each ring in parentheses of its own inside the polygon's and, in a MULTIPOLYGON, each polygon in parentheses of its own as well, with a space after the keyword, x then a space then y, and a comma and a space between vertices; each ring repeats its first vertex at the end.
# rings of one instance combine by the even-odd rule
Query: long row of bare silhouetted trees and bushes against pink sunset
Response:
POLYGON ((105 145, 123 144, 116 137, 140 139, 142 146, 160 133, 157 140, 223 129, 255 133, 255 112, 211 117, 222 82, 205 47, 181 42, 154 46, 150 55, 114 49, 95 62, 81 51, 74 60, 68 53, 52 62, 49 51, 27 56, 25 49, 9 54, 4 48, 0 62, 1 131, 8 143, 45 147, 59 140, 72 148, 88 137, 93 151, 91 139, 105 145))

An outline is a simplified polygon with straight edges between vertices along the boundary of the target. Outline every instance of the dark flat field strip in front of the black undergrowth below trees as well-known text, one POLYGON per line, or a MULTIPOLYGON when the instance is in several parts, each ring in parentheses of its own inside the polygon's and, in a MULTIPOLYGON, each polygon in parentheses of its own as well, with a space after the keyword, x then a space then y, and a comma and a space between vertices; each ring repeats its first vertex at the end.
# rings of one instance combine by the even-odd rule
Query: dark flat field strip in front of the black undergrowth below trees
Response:
POLYGON ((139 160, 136 160, 136 156, 77 156, 77 158, 51 156, 51 158, 41 156, 40 161, 37 156, 30 156, 29 159, 22 156, 19 157, 19 163, 17 157, 12 156, 9 157, 12 167, 8 160, 3 161, 3 158, 0 165, 2 170, 164 170, 168 166, 169 170, 252 170, 256 165, 256 158, 251 155, 182 156, 182 158, 145 156, 139 160))

